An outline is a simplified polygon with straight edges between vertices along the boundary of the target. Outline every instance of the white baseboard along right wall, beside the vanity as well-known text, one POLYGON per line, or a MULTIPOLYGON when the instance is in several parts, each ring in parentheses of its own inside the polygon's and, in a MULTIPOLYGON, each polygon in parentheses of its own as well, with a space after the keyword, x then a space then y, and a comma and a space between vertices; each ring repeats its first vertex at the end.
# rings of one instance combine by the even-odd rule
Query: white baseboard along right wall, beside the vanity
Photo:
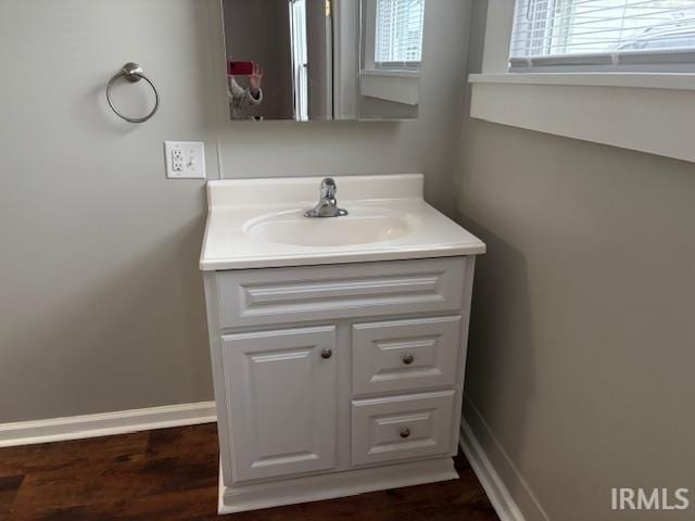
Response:
POLYGON ((466 401, 467 407, 465 409, 469 410, 472 415, 475 415, 475 423, 478 425, 478 429, 473 431, 469 422, 466 418, 462 417, 460 420, 460 437, 459 444, 460 447, 468 458, 468 462, 470 467, 473 469, 473 472, 478 476, 480 484, 484 488, 488 494, 488 498, 490 503, 494 507, 497 516, 501 521, 526 521, 526 517, 521 513, 521 510, 517 506, 516 501, 509 494, 509 490, 505 485, 502 478, 500 478, 500 473, 495 469, 491 459, 495 459, 498 465, 505 465, 507 467, 507 472, 505 473, 507 476, 511 475, 514 480, 518 482, 518 487, 515 487, 520 494, 523 494, 522 504, 527 506, 529 509, 527 514, 529 519, 533 520, 544 520, 548 521, 547 514, 538 503, 535 496, 531 493, 526 481, 518 473, 517 469, 511 465, 508 456, 494 437, 488 423, 485 423, 484 419, 480 415, 480 411, 476 408, 473 404, 470 403, 467 396, 464 396, 466 401), (482 448, 479 440, 476 437, 485 436, 486 440, 485 446, 496 447, 498 458, 492 458, 485 454, 485 450, 482 448), (500 461, 504 461, 504 463, 500 463, 500 461))

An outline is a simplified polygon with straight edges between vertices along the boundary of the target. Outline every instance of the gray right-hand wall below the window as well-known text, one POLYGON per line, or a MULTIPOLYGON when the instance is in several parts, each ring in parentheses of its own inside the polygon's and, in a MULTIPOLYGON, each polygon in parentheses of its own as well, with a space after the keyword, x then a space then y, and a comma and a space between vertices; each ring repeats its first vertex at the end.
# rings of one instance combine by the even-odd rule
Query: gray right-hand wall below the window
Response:
POLYGON ((458 220, 489 246, 466 372, 476 436, 528 521, 543 519, 532 495, 552 520, 692 519, 695 166, 465 123, 458 220), (615 513, 614 486, 686 487, 691 510, 615 513))

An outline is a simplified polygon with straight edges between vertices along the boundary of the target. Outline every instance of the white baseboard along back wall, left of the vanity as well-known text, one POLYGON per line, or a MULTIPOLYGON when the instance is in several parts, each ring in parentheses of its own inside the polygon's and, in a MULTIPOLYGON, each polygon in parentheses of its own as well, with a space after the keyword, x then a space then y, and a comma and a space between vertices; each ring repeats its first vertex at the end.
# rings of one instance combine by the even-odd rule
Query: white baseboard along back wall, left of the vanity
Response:
POLYGON ((217 420, 214 402, 0 423, 0 447, 110 436, 217 420))

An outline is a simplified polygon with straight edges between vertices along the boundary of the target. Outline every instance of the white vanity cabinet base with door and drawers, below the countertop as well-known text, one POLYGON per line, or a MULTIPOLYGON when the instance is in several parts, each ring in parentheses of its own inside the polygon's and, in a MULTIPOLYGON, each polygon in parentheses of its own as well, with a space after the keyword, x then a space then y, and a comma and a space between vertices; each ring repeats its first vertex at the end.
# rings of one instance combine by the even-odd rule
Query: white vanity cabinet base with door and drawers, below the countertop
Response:
POLYGON ((473 265, 205 271, 220 512, 456 478, 473 265))

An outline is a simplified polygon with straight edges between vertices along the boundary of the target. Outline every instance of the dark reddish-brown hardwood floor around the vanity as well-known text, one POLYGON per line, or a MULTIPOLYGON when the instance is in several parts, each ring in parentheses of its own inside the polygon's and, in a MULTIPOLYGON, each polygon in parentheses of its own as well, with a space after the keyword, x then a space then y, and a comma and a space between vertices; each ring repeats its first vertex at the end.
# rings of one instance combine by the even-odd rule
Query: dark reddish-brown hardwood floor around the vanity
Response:
POLYGON ((463 456, 460 479, 217 517, 214 423, 0 448, 2 521, 496 521, 463 456))

